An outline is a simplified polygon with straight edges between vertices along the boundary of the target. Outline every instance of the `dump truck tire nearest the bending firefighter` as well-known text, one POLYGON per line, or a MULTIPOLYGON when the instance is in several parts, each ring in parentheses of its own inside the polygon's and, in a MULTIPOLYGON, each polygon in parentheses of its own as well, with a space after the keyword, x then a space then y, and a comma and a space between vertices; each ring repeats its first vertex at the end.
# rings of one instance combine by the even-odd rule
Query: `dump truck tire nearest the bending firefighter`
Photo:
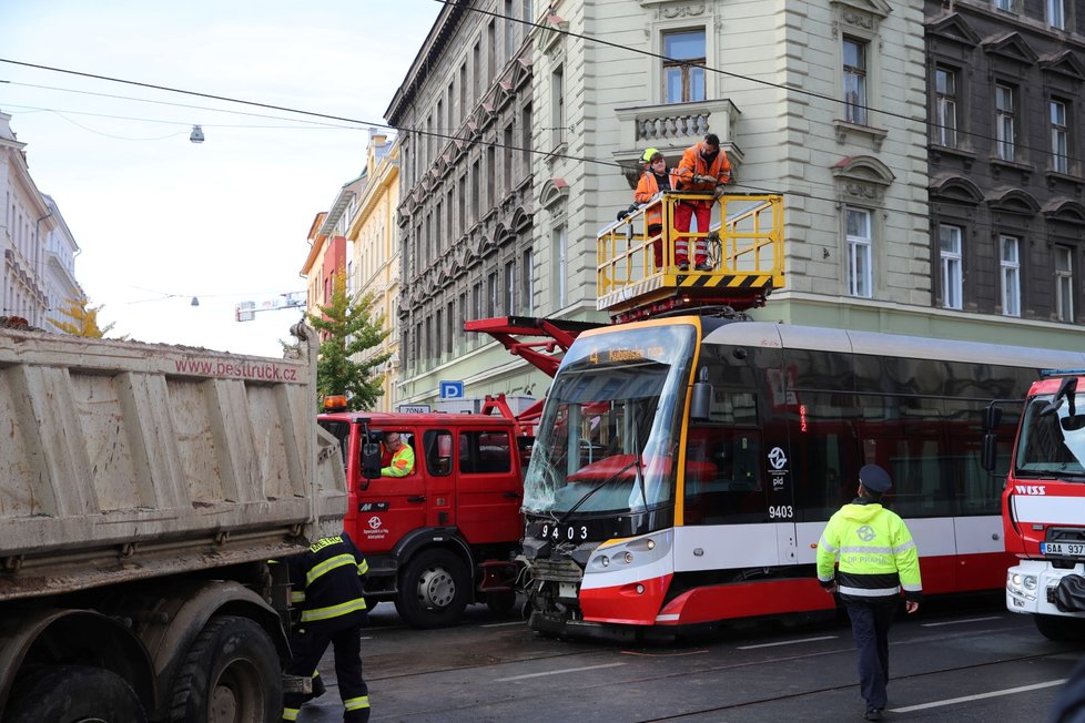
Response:
POLYGON ((282 672, 267 632, 247 618, 212 618, 185 654, 172 706, 171 723, 281 721, 282 672))

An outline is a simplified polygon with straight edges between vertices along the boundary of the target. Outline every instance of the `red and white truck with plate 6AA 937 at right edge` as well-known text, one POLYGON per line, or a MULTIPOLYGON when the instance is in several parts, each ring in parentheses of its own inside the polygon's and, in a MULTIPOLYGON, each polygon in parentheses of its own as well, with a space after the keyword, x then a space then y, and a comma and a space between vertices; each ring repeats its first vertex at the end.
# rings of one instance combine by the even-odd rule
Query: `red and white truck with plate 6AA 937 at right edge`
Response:
MULTIPOLYGON (((1025 399, 1002 493, 1006 551, 1020 561, 1006 573, 1006 608, 1033 615, 1052 640, 1085 639, 1085 408, 1077 399, 1085 369, 1049 370, 1025 399)), ((983 464, 1005 468, 994 441, 1002 417, 985 419, 983 464)))

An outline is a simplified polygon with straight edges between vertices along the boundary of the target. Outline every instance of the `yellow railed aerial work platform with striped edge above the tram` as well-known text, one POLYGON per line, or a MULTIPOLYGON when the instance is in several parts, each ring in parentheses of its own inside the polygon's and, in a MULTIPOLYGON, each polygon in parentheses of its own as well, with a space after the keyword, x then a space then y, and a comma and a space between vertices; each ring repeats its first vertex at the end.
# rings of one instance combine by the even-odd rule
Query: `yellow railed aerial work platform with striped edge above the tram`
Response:
MULTIPOLYGON (((696 223, 696 222, 694 222, 696 223)), ((604 228, 598 235, 599 310, 615 322, 647 318, 671 309, 730 306, 737 312, 763 306, 783 287, 783 196, 727 194, 719 198, 663 192, 604 228), (679 203, 710 201, 710 228, 680 234, 675 228, 679 203), (648 230, 649 215, 661 230, 648 230), (679 268, 675 241, 689 237, 689 269, 679 268), (710 271, 693 268, 694 247, 707 245, 710 271), (653 246, 662 251, 656 265, 653 246)))

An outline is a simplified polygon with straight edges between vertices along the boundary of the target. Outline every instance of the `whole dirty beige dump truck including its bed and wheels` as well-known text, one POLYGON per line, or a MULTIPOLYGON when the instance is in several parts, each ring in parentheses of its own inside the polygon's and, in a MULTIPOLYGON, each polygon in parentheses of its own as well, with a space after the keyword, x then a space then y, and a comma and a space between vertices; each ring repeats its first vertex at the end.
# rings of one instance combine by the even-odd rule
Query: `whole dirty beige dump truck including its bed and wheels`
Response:
POLYGON ((297 358, 0 328, 0 720, 278 721, 285 566, 342 529, 297 358))

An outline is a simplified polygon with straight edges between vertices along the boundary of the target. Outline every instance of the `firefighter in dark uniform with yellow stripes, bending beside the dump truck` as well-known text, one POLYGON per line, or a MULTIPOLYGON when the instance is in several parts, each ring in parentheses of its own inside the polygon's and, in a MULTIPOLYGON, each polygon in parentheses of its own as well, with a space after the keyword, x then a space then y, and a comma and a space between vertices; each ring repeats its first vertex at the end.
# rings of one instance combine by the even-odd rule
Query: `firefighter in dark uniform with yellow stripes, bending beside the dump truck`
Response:
POLYGON ((303 553, 285 560, 290 570, 291 601, 301 617, 291 633, 293 658, 287 675, 313 675, 314 694, 287 693, 283 720, 296 721, 306 701, 323 693, 314 673, 324 651, 335 650, 335 678, 339 683, 345 723, 369 720, 369 690, 362 678, 362 623, 365 621, 363 580, 365 557, 346 534, 324 537, 303 553))

